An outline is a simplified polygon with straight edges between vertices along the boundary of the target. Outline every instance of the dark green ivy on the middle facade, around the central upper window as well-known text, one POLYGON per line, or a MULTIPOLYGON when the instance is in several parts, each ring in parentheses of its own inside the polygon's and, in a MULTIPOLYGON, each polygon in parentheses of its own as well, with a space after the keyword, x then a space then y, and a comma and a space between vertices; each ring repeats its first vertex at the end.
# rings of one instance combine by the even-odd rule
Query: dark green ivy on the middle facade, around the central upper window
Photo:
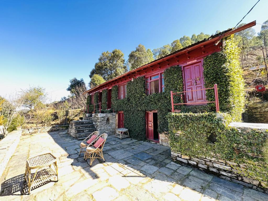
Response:
MULTIPOLYGON (((118 100, 118 87, 112 88, 112 109, 124 111, 124 126, 132 138, 146 139, 146 111, 158 111, 158 132, 168 131, 166 115, 171 110, 170 91, 182 91, 181 66, 172 66, 164 71, 165 91, 152 95, 145 94, 145 79, 138 77, 126 85, 126 98, 118 100)), ((181 99, 176 100, 181 102, 181 99)), ((179 107, 178 107, 179 108, 179 107)))

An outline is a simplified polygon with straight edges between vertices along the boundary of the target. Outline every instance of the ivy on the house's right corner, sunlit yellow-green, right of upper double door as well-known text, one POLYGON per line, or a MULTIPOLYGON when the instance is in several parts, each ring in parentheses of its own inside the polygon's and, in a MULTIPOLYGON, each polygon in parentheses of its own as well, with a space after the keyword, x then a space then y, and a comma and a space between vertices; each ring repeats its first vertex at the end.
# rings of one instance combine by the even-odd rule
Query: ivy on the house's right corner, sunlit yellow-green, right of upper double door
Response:
MULTIPOLYGON (((204 58, 205 88, 218 85, 219 108, 229 112, 233 121, 241 121, 244 109, 244 80, 239 63, 240 49, 234 38, 226 40, 221 52, 213 53, 204 58)), ((208 101, 214 101, 214 90, 207 90, 208 101)), ((210 104, 215 109, 215 104, 210 104)))

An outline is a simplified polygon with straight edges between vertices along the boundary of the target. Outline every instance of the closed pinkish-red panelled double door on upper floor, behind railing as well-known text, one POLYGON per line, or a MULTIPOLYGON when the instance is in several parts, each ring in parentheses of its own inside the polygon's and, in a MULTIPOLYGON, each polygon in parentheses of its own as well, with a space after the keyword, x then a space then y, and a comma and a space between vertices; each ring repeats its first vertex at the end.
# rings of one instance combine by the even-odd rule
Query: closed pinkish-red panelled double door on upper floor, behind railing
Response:
MULTIPOLYGON (((202 63, 196 63, 184 67, 185 91, 199 90, 204 88, 202 63)), ((191 91, 186 93, 187 103, 205 101, 204 90, 191 91)))

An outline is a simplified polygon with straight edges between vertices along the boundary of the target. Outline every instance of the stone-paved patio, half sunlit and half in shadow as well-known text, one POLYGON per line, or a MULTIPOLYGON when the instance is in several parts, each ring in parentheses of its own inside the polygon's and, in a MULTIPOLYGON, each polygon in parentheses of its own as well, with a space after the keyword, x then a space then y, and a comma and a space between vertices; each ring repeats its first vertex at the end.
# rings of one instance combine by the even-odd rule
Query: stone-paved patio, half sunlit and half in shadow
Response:
POLYGON ((67 131, 21 136, 0 182, 0 200, 242 200, 268 195, 172 162, 169 147, 108 136, 105 162, 92 167, 79 157, 80 141, 67 131), (59 157, 59 181, 32 189, 24 184, 27 158, 43 152, 59 157))

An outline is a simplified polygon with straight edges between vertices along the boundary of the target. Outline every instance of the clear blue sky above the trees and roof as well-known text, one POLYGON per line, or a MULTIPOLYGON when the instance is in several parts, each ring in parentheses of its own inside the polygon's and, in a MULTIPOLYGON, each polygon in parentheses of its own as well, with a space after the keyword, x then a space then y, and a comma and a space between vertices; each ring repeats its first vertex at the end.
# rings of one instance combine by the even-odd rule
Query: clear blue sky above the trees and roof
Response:
MULTIPOLYGON (((183 35, 234 27, 256 1, 0 1, 0 95, 39 85, 67 96, 103 51, 151 50, 183 35), (243 3, 242 3, 243 2, 243 3)), ((261 0, 242 23, 268 19, 261 0)), ((255 26, 259 32, 260 25, 255 26)))

